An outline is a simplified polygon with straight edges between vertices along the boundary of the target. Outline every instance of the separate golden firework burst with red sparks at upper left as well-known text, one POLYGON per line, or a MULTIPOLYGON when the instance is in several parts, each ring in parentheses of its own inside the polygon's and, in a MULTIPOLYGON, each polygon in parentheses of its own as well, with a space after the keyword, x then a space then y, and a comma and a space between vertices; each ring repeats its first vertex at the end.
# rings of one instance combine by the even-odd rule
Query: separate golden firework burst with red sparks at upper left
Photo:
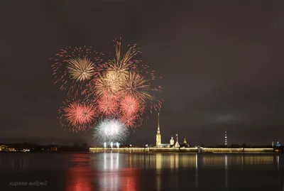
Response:
POLYGON ((60 89, 67 91, 69 97, 86 94, 90 73, 92 77, 102 71, 102 53, 92 50, 92 47, 65 48, 55 55, 53 60, 53 77, 55 84, 60 84, 60 89), (78 62, 79 61, 79 62, 78 62), (92 63, 92 65, 91 65, 92 63), (82 72, 85 70, 85 72, 82 72), (81 73, 81 75, 80 75, 81 73))

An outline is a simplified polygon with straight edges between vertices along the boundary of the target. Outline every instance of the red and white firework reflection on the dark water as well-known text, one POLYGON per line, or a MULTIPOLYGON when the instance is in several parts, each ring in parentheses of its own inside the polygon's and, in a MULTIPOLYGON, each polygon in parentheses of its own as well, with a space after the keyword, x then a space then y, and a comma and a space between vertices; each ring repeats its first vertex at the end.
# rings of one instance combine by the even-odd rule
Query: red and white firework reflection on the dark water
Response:
POLYGON ((138 173, 134 168, 122 168, 119 157, 115 155, 104 158, 104 161, 95 160, 92 163, 101 163, 104 170, 95 170, 90 167, 88 155, 74 154, 71 163, 75 166, 67 170, 66 191, 107 191, 123 190, 136 191, 138 173))

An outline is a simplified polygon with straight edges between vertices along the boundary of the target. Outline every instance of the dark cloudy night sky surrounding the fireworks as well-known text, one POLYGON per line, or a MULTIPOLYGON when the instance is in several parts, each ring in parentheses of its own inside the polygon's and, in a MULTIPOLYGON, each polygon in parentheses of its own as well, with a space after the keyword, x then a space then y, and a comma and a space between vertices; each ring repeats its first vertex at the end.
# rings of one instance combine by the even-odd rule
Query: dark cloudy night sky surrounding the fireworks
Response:
MULTIPOLYGON (((86 142, 58 108, 67 97, 50 58, 67 46, 114 53, 113 38, 137 43, 160 82, 162 142, 284 143, 284 4, 224 1, 6 1, 0 3, 0 142, 86 142), (182 141, 182 140, 180 140, 182 141)), ((157 114, 129 139, 155 143, 157 114)))

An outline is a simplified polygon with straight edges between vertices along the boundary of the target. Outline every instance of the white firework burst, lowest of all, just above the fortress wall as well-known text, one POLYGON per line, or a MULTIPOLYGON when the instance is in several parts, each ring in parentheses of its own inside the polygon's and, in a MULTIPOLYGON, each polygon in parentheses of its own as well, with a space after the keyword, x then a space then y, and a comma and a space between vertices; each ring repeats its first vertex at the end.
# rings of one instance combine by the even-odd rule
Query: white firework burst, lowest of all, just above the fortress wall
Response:
POLYGON ((124 143, 129 136, 129 131, 118 119, 104 119, 94 127, 93 135, 99 143, 124 143))

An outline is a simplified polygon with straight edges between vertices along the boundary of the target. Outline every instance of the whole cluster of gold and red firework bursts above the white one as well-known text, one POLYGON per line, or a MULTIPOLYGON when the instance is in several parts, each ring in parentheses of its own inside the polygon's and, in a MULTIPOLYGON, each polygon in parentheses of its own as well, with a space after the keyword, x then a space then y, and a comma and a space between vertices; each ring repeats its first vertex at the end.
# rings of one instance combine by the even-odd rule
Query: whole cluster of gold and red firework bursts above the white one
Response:
MULTIPOLYGON (((61 84, 60 89, 67 90, 69 97, 85 100, 60 108, 61 123, 72 131, 87 130, 96 119, 105 118, 100 126, 116 121, 126 131, 135 131, 144 114, 160 111, 163 99, 157 97, 161 87, 155 85, 155 71, 134 60, 141 53, 136 45, 129 45, 123 53, 121 42, 114 40, 114 48, 114 58, 107 62, 87 47, 65 48, 53 58, 55 83, 61 84)), ((102 128, 94 132, 100 133, 98 129, 102 128)))

